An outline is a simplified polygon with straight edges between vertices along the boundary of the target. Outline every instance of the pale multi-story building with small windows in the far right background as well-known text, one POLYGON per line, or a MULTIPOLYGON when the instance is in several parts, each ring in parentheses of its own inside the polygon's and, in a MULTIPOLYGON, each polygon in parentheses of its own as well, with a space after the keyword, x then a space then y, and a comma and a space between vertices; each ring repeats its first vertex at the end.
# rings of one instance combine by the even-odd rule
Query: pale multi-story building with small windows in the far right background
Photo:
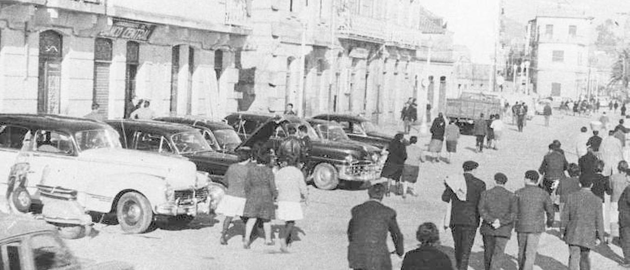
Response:
POLYGON ((529 22, 530 76, 541 97, 583 98, 587 93, 590 21, 566 6, 541 9, 529 22))

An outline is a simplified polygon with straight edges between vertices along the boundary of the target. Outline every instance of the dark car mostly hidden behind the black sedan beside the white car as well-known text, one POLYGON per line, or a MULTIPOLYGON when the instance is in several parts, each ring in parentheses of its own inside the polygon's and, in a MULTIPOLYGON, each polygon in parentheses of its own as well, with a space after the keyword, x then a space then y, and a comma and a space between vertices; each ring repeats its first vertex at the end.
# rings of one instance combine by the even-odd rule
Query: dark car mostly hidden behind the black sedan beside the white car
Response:
POLYGON ((222 153, 234 153, 234 150, 243 143, 232 126, 206 117, 186 115, 160 117, 153 120, 195 127, 202 132, 203 138, 212 146, 212 149, 222 153))

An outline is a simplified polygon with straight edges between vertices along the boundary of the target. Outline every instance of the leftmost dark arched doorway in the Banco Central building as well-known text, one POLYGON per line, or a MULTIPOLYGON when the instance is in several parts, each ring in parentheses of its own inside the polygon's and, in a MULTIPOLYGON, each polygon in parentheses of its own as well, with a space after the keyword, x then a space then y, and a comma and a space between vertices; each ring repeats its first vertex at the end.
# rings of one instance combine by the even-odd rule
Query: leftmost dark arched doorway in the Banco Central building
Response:
POLYGON ((59 114, 61 91, 62 36, 47 30, 39 37, 37 113, 59 114))

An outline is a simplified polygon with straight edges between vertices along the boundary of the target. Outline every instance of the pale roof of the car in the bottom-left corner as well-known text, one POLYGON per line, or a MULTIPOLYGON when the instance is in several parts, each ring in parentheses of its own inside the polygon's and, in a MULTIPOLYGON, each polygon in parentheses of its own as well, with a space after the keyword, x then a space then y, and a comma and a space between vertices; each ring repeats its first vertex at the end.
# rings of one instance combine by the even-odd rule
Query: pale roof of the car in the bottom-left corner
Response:
POLYGON ((35 218, 18 216, 17 214, 6 214, 0 212, 0 240, 26 235, 37 232, 55 232, 57 229, 42 220, 35 218))

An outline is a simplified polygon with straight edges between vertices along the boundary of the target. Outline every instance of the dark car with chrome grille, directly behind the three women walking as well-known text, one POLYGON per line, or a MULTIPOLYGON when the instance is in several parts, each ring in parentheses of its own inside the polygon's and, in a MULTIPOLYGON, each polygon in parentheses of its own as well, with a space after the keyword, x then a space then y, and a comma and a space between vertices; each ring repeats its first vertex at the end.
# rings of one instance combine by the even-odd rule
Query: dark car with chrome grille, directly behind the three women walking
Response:
POLYGON ((304 125, 312 141, 312 150, 305 161, 307 180, 319 189, 335 189, 339 180, 369 182, 378 177, 379 150, 355 143, 320 139, 304 119, 292 115, 238 112, 226 117, 227 123, 245 134, 242 145, 255 148, 256 143, 268 142, 273 149, 287 137, 288 127, 304 125), (262 132, 267 131, 267 132, 262 132), (253 136, 256 134, 256 136, 253 136))

